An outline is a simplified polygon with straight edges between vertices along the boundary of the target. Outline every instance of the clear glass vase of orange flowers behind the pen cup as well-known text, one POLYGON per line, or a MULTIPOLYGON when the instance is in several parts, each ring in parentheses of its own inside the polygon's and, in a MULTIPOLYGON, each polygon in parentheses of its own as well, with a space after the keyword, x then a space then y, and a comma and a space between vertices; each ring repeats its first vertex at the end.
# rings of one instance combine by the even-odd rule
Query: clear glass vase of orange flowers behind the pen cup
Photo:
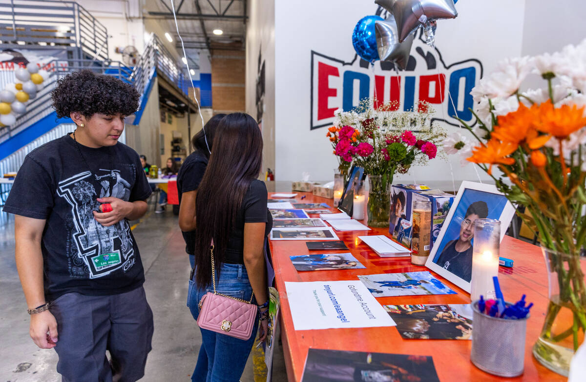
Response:
POLYGON ((586 329, 586 260, 541 248, 546 260, 549 304, 533 356, 548 369, 568 376, 570 361, 584 342, 586 329))

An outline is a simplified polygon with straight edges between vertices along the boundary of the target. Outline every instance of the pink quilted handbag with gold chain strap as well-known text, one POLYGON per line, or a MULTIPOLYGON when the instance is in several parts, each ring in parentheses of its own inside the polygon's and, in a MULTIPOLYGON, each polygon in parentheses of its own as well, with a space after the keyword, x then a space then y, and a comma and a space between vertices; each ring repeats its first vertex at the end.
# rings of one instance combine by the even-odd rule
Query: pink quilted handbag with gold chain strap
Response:
POLYGON ((214 292, 207 292, 199 302, 197 325, 202 329, 220 334, 250 339, 253 332, 257 307, 250 301, 226 296, 216 292, 216 271, 214 269, 214 247, 212 244, 212 279, 214 292))

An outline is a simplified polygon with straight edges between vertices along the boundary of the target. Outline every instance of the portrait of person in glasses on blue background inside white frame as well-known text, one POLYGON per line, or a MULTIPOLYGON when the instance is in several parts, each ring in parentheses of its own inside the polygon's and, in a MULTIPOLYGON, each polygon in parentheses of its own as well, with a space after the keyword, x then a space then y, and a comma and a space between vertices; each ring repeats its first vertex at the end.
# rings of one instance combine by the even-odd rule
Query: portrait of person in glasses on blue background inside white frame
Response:
MULTIPOLYGON (((433 262, 457 277, 470 282, 472 278, 472 248, 476 219, 499 219, 507 199, 503 195, 466 189, 459 200, 452 219, 433 262)), ((445 223, 444 223, 445 224, 445 223)), ((506 230, 507 227, 501 227, 506 230)))

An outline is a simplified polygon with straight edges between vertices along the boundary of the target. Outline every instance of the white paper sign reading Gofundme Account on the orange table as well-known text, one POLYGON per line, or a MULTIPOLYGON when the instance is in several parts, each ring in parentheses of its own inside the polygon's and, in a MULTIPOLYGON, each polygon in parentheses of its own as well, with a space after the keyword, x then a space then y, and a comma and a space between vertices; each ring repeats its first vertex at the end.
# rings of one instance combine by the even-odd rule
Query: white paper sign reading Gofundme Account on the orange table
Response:
POLYGON ((285 282, 295 330, 395 326, 362 282, 285 282))

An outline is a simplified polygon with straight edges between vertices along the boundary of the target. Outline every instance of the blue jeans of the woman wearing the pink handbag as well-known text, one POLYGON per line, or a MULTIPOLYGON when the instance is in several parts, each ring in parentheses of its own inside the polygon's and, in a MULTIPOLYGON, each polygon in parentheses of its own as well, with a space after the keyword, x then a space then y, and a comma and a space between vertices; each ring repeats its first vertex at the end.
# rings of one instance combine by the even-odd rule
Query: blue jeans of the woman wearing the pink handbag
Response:
MULTIPOLYGON (((197 289, 193 280, 189 280, 187 306, 193 318, 199 316, 199 301, 207 292, 213 292, 213 286, 197 289)), ((248 281, 246 268, 242 264, 222 264, 220 277, 216 273, 216 291, 218 293, 250 300, 253 293, 248 281)), ((254 303, 253 299, 253 303, 254 303)), ((254 323, 253 333, 248 340, 241 340, 211 330, 202 332, 202 347, 199 349, 197 364, 191 380, 193 382, 237 382, 242 376, 248 355, 252 350, 258 329, 258 320, 254 323)))

